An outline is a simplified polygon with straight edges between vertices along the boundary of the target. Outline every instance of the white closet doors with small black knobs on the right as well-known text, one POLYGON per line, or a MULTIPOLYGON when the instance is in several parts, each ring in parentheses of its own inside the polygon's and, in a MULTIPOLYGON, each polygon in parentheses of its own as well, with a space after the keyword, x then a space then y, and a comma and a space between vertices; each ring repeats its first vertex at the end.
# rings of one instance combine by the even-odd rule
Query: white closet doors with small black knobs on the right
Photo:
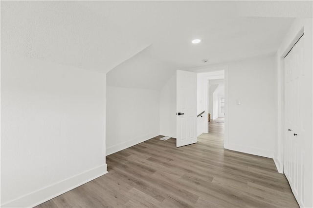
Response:
MULTIPOLYGON (((308 138, 306 124, 311 122, 312 116, 306 114, 310 103, 308 95, 308 75, 306 75, 304 61, 304 36, 293 46, 284 59, 285 64, 285 160, 284 173, 289 181, 291 190, 300 207, 305 207, 305 192, 312 186, 305 171, 306 139, 308 138)), ((312 98, 312 91, 311 91, 312 98)), ((312 108, 312 106, 311 106, 312 108)), ((310 166, 310 165, 309 165, 310 166)), ((311 175, 312 177, 312 175, 311 175)), ((312 196, 312 195, 311 195, 312 196)))

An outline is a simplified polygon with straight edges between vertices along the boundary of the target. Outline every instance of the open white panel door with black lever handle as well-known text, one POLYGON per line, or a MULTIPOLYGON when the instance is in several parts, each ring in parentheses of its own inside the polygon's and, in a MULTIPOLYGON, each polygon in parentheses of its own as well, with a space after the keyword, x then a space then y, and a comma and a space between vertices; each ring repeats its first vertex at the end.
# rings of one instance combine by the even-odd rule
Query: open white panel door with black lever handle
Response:
POLYGON ((176 73, 176 147, 197 143, 197 74, 176 73))

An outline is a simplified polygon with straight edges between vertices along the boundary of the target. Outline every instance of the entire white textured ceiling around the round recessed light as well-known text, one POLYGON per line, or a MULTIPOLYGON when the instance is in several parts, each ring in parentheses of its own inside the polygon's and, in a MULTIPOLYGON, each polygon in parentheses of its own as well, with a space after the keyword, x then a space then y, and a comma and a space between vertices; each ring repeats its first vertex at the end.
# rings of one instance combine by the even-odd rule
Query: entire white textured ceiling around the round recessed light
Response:
POLYGON ((1 52, 104 73, 150 45, 145 57, 174 68, 247 58, 312 18, 312 1, 265 2, 1 1, 1 52))

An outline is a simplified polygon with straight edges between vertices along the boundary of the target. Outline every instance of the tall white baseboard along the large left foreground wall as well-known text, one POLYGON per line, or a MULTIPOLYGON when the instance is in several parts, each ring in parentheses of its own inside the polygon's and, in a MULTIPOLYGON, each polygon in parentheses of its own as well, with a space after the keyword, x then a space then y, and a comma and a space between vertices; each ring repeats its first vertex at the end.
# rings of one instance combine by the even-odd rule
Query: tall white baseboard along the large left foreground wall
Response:
POLYGON ((93 179, 108 173, 107 164, 70 177, 64 181, 34 191, 1 205, 1 208, 35 207, 71 189, 75 189, 93 179))

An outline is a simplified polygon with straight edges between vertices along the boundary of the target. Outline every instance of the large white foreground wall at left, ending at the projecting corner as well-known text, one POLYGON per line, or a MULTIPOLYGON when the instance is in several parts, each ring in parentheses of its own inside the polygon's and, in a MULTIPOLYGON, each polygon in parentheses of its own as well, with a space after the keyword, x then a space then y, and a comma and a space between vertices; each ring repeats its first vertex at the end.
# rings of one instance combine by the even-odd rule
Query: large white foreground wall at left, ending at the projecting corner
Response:
POLYGON ((105 88, 105 74, 1 53, 1 207, 107 172, 105 88))

